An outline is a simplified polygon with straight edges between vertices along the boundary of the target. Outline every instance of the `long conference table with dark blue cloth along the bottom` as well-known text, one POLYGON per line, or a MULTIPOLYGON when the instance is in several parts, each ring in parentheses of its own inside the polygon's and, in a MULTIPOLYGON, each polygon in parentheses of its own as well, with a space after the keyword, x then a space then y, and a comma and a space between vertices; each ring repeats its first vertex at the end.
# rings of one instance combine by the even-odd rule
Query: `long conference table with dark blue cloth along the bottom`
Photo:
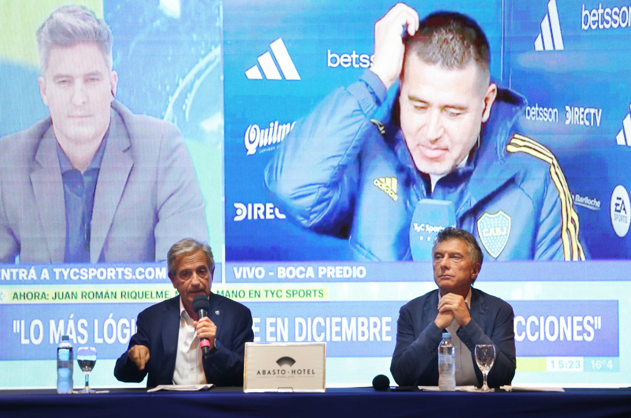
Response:
POLYGON ((631 388, 565 392, 375 391, 244 393, 242 388, 57 395, 54 390, 0 391, 0 417, 631 417, 631 388))

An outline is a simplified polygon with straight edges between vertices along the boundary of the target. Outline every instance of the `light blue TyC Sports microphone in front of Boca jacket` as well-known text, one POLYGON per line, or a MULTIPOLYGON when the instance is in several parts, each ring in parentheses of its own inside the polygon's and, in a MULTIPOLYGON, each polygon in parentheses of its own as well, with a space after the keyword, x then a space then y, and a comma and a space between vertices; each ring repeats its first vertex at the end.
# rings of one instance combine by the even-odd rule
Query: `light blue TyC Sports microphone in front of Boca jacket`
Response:
POLYGON ((436 236, 446 227, 456 226, 454 204, 447 200, 421 199, 410 223, 410 249, 414 261, 432 261, 436 236))

